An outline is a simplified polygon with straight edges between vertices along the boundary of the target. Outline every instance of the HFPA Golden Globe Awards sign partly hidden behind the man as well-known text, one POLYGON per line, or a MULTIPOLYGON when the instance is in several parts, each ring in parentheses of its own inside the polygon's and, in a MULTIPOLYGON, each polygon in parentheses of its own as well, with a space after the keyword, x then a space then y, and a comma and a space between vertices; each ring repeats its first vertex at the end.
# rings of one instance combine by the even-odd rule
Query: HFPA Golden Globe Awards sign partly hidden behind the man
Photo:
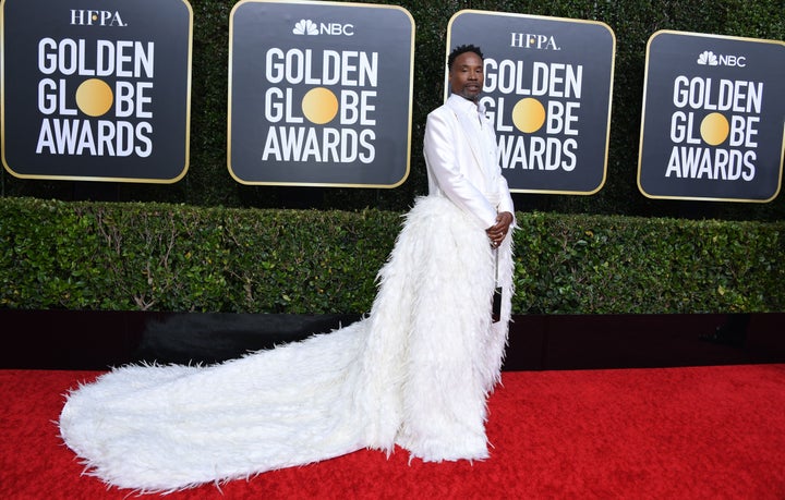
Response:
POLYGON ((485 56, 481 102, 512 192, 593 194, 605 183, 615 36, 599 22, 464 10, 447 51, 485 56))

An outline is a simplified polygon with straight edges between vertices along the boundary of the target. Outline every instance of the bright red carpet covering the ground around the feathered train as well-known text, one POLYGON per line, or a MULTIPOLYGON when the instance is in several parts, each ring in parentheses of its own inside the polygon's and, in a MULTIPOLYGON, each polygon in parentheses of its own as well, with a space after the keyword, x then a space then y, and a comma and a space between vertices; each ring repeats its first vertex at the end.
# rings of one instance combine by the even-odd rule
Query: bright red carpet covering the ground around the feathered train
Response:
MULTIPOLYGON (((62 393, 96 375, 0 370, 0 499, 129 497, 81 476, 57 438, 62 393)), ((785 365, 503 380, 488 403, 486 462, 408 464, 402 450, 389 460, 360 451, 166 498, 785 499, 785 365)))

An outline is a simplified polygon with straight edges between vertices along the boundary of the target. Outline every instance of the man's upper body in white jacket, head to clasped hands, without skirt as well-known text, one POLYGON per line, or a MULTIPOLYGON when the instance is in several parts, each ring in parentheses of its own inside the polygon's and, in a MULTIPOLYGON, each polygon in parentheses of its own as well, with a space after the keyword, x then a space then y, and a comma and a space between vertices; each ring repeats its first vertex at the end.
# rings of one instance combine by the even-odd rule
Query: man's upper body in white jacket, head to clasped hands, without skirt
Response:
POLYGON ((479 106, 482 51, 472 45, 457 47, 447 66, 450 96, 428 114, 425 125, 428 191, 475 216, 491 245, 498 247, 514 223, 514 206, 498 166, 493 124, 479 106))

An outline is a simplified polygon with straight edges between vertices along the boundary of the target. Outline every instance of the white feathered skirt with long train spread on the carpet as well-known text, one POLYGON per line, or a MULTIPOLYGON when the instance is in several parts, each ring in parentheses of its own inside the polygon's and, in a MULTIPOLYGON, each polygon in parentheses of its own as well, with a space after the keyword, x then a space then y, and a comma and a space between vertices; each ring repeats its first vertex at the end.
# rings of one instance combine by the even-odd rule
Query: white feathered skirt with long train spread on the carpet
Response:
POLYGON ((512 294, 473 218, 418 198, 371 313, 338 330, 212 366, 130 365, 65 394, 60 435, 86 473, 140 492, 247 478, 363 448, 482 460, 512 294))

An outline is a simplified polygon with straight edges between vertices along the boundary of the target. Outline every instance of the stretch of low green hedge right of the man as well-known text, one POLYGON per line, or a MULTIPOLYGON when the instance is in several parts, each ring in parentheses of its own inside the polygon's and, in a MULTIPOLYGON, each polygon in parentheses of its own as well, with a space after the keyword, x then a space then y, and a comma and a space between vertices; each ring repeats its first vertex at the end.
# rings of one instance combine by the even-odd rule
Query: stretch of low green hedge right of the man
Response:
POLYGON ((785 222, 519 219, 518 313, 785 310, 785 222))

